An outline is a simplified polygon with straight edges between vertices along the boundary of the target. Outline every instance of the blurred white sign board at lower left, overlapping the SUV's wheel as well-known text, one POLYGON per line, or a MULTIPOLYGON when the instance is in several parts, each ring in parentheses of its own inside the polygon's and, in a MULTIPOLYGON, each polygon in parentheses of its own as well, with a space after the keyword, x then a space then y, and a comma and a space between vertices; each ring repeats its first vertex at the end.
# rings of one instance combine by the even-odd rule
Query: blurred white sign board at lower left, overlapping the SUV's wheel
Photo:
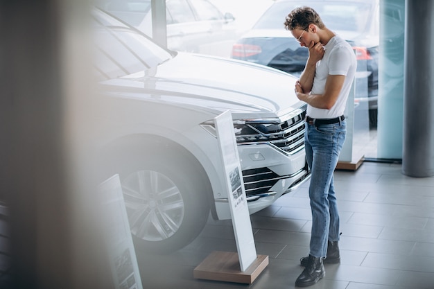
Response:
POLYGON ((100 185, 101 215, 114 288, 142 289, 119 175, 100 185))

